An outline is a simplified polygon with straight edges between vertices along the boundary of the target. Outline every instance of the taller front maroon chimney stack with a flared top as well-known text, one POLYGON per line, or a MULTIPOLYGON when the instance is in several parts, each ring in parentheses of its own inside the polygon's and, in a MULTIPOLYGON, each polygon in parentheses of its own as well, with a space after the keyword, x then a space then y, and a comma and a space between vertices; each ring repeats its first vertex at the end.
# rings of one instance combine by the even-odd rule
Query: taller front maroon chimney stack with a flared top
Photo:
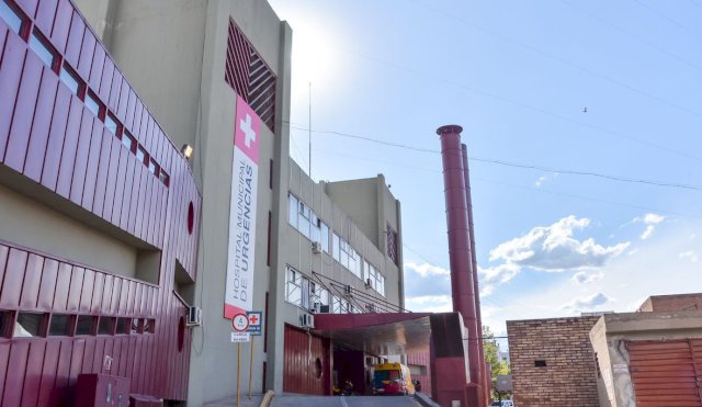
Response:
POLYGON ((463 127, 458 125, 446 125, 437 129, 441 138, 453 310, 461 313, 467 331, 469 381, 475 385, 482 385, 480 335, 476 315, 476 285, 472 272, 473 257, 466 199, 468 192, 463 166, 461 132, 463 127))

